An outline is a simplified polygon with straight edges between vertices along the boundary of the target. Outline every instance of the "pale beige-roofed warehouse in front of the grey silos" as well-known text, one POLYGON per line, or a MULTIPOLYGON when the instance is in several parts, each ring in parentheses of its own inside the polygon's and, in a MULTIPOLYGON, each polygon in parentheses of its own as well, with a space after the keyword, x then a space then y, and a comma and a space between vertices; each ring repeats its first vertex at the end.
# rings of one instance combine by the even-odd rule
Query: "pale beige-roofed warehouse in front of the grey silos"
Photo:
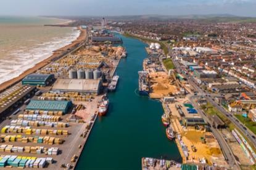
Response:
POLYGON ((101 79, 57 79, 53 91, 80 92, 99 95, 102 89, 101 79))

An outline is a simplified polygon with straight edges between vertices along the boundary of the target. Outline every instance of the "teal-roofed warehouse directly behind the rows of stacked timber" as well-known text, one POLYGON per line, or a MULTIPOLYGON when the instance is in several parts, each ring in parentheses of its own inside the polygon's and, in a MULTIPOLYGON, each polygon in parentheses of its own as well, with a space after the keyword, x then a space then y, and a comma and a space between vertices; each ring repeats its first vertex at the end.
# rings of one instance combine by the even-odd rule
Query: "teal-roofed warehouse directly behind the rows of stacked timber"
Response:
POLYGON ((31 100, 27 110, 44 110, 44 111, 59 111, 67 114, 68 109, 72 107, 71 101, 39 101, 31 100))

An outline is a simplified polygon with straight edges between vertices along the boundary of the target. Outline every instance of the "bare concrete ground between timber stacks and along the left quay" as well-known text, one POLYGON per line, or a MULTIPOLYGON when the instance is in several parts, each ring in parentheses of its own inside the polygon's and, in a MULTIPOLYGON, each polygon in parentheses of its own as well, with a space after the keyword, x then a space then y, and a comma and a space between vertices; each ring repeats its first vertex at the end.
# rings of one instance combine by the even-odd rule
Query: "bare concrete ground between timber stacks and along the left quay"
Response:
MULTIPOLYGON (((36 97, 34 97, 36 98, 36 97)), ((49 149, 50 147, 59 147, 59 155, 45 155, 44 153, 38 154, 38 153, 18 153, 18 152, 0 152, 0 155, 18 155, 18 156, 36 156, 36 157, 52 157, 54 160, 53 164, 48 164, 47 168, 50 169, 60 169, 60 166, 62 164, 67 165, 68 163, 70 163, 73 167, 75 166, 75 163, 77 161, 78 156, 80 156, 80 153, 83 149, 83 146, 85 145, 86 139, 89 136, 89 132, 91 130, 91 128, 93 126, 91 126, 90 129, 88 129, 88 133, 86 133, 86 135, 84 137, 83 133, 84 131, 86 131, 86 126, 89 125, 89 123, 94 122, 94 120, 96 119, 95 115, 97 115, 97 104, 99 102, 99 100, 101 99, 101 96, 96 96, 96 98, 93 99, 93 101, 91 102, 83 102, 83 104, 85 105, 86 109, 85 109, 85 113, 87 113, 86 115, 81 115, 83 116, 83 120, 85 121, 85 123, 71 123, 69 122, 69 125, 67 128, 51 128, 48 126, 32 126, 31 128, 36 128, 36 129, 67 129, 68 130, 68 135, 55 135, 55 134, 46 134, 46 136, 51 136, 51 137, 62 137, 64 139, 64 143, 63 144, 53 144, 53 145, 49 145, 46 143, 33 143, 33 142, 27 142, 27 143, 23 143, 23 142, 3 142, 1 144, 6 144, 6 145, 14 145, 15 147, 25 147, 25 146, 29 146, 29 147, 35 147, 35 146, 39 146, 39 147, 46 147, 47 149, 49 149), (80 146, 81 145, 81 146, 80 146), (72 146, 72 147, 70 147, 72 146), (72 157, 76 155, 76 159, 75 162, 71 162, 72 157)), ((81 102, 76 102, 75 104, 81 104, 81 102)), ((17 115, 11 115, 10 116, 10 120, 4 120, 4 122, 1 123, 0 128, 2 129, 4 126, 6 125, 10 125, 10 121, 17 119, 19 114, 23 114, 23 109, 25 109, 25 106, 22 106, 22 111, 20 111, 17 115)), ((71 114, 65 114, 60 116, 62 120, 60 120, 60 122, 66 122, 66 119, 68 117, 70 117, 71 114)), ((25 134, 24 133, 4 133, 6 135, 17 135, 17 134, 21 134, 22 136, 43 136, 43 135, 36 135, 36 134, 25 134)), ((1 145, 0 144, 0 145, 1 145)))

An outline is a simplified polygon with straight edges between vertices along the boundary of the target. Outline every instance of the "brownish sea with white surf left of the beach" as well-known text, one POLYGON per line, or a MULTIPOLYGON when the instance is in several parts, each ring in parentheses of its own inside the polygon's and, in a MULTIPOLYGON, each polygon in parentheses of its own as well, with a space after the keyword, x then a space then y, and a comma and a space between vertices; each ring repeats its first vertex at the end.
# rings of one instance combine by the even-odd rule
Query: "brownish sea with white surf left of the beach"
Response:
POLYGON ((75 41, 80 35, 76 28, 44 26, 66 22, 59 18, 0 16, 0 84, 75 41))

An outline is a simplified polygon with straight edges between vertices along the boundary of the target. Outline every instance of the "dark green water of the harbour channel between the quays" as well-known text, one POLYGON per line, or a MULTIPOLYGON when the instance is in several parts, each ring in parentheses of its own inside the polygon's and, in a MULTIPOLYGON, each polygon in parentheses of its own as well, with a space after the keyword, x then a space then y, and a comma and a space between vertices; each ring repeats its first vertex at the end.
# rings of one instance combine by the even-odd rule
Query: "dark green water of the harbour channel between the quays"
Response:
POLYGON ((117 91, 109 94, 109 112, 97 118, 76 169, 141 169, 146 156, 181 162, 175 142, 165 136, 161 103, 135 93, 146 44, 121 37, 128 56, 117 68, 117 91))

